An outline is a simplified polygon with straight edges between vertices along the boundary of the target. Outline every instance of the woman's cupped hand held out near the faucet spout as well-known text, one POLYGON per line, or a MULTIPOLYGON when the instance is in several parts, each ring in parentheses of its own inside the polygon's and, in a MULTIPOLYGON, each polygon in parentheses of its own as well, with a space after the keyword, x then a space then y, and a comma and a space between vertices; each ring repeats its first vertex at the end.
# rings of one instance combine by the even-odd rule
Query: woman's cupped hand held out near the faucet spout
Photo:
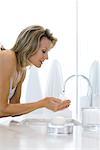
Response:
POLYGON ((52 111, 58 111, 64 108, 68 108, 70 106, 70 103, 70 100, 61 100, 59 98, 54 97, 46 97, 44 99, 44 107, 52 111))

